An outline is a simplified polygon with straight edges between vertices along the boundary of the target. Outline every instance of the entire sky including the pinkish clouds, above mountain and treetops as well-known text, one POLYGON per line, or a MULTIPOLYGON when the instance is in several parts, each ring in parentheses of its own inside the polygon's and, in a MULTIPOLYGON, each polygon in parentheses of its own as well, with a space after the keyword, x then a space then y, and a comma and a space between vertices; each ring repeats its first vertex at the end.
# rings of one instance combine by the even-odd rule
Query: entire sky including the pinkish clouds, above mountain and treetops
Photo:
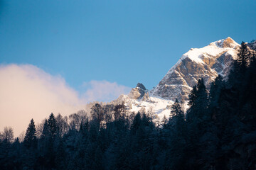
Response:
POLYGON ((191 49, 256 39, 255 0, 0 0, 0 131, 69 115, 141 82, 191 49), (14 119, 15 118, 15 119, 14 119))

